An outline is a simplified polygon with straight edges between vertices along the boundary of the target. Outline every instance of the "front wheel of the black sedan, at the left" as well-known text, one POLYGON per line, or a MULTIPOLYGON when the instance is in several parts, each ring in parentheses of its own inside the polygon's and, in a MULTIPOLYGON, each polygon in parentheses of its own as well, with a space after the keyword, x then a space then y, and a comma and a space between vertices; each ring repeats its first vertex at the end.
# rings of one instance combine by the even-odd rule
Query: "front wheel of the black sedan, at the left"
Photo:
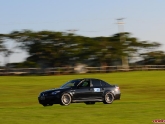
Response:
POLYGON ((71 101, 72 101, 72 98, 68 93, 62 94, 61 102, 60 102, 61 105, 67 106, 71 103, 71 101))

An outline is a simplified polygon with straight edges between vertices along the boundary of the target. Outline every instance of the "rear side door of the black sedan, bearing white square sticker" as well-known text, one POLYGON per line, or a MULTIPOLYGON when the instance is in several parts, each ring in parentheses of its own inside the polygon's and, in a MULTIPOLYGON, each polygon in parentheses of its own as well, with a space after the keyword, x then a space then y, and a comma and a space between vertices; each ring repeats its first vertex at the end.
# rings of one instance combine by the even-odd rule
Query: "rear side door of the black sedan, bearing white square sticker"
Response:
POLYGON ((99 79, 91 79, 92 88, 93 88, 93 98, 94 99, 102 99, 104 88, 101 85, 101 80, 99 79))

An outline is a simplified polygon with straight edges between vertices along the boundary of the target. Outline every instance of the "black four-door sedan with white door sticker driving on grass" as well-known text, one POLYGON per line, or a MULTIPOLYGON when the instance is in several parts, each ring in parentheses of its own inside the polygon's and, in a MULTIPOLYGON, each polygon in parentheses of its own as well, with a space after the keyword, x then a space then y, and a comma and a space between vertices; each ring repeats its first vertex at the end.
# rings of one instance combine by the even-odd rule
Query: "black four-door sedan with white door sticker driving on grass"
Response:
POLYGON ((95 102, 111 104, 114 100, 120 100, 120 88, 103 80, 94 78, 70 80, 60 88, 43 91, 38 96, 38 101, 43 106, 70 103, 85 103, 87 105, 95 102))

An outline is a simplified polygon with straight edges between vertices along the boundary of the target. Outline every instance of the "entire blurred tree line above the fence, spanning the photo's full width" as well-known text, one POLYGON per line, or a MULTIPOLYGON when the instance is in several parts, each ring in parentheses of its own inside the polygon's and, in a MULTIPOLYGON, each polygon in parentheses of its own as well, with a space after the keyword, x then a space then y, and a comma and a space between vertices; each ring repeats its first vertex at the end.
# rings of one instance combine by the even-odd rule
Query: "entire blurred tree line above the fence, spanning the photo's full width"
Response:
POLYGON ((60 67, 76 63, 120 65, 122 56, 128 60, 141 56, 144 58, 141 64, 165 64, 164 52, 154 51, 161 44, 140 41, 128 32, 109 37, 86 37, 54 31, 13 31, 0 34, 0 53, 5 57, 14 52, 3 45, 7 40, 15 41, 17 47, 29 54, 24 62, 16 63, 15 67, 60 67))

